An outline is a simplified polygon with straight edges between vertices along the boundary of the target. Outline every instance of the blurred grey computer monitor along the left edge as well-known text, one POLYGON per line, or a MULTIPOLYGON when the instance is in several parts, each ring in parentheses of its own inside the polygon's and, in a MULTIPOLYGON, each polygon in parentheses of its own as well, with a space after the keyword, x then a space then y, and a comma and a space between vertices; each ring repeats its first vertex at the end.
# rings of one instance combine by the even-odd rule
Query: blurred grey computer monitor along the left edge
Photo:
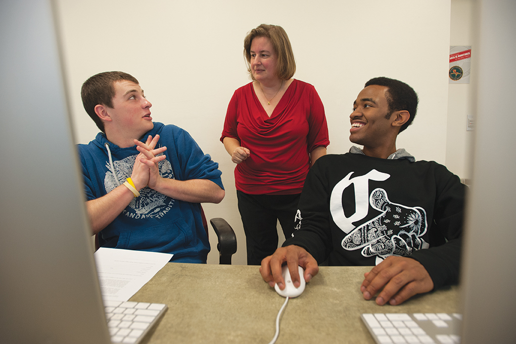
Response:
POLYGON ((0 342, 109 343, 52 4, 0 28, 0 342))

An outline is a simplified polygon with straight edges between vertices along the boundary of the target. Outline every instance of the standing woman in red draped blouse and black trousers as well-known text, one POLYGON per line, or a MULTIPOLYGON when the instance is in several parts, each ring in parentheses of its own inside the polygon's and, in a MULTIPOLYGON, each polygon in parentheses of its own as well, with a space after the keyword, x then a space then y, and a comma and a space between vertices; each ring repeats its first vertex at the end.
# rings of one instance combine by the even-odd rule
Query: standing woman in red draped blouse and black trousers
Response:
POLYGON ((244 56, 253 81, 233 94, 220 140, 237 164, 247 262, 260 265, 278 247, 278 220, 285 237, 292 236, 304 179, 330 141, 315 88, 292 79, 296 62, 281 26, 252 29, 244 56))

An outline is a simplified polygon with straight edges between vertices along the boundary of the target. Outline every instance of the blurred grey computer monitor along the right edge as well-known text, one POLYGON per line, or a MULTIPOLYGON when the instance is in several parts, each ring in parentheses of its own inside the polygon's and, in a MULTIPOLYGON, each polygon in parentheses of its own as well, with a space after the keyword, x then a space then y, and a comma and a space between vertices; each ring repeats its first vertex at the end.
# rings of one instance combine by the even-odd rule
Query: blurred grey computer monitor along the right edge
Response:
POLYGON ((477 118, 461 271, 462 342, 516 343, 516 2, 480 0, 474 6, 480 28, 471 77, 477 118))

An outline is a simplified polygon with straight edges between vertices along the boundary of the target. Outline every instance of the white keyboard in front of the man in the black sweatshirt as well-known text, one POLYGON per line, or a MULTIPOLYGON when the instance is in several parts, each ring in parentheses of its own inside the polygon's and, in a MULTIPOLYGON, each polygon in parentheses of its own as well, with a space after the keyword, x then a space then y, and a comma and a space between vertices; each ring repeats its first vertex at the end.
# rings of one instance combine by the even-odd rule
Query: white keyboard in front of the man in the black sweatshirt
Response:
POLYGON ((446 313, 362 314, 378 344, 460 343, 462 316, 446 313))

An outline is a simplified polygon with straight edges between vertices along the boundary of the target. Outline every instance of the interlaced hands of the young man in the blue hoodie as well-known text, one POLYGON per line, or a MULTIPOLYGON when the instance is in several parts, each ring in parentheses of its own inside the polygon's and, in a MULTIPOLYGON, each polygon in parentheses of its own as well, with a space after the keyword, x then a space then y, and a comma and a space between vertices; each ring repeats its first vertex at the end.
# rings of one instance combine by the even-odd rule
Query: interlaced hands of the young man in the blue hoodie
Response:
POLYGON ((136 139, 134 140, 136 149, 140 153, 137 155, 136 161, 134 162, 131 179, 133 180, 137 190, 141 190, 145 186, 149 186, 151 189, 154 189, 159 179, 162 178, 159 175, 158 163, 165 160, 166 156, 165 154, 158 154, 166 151, 167 147, 155 149, 158 140, 158 134, 154 137, 149 135, 145 143, 136 139))

